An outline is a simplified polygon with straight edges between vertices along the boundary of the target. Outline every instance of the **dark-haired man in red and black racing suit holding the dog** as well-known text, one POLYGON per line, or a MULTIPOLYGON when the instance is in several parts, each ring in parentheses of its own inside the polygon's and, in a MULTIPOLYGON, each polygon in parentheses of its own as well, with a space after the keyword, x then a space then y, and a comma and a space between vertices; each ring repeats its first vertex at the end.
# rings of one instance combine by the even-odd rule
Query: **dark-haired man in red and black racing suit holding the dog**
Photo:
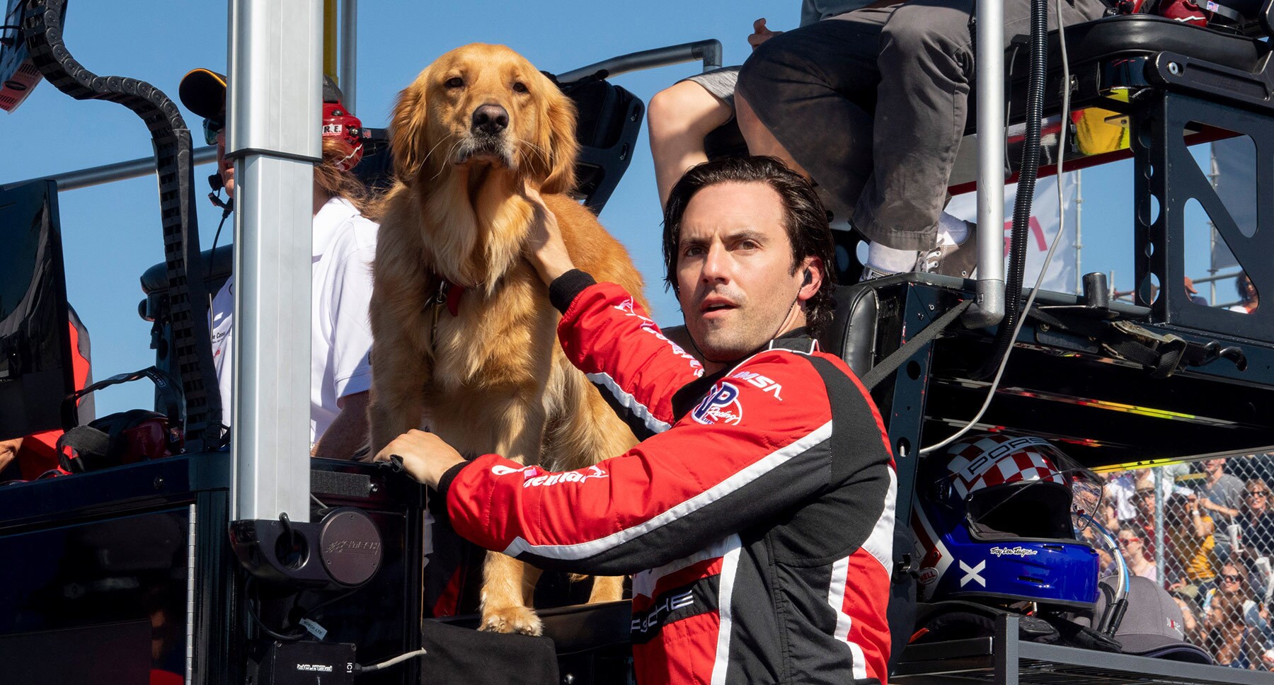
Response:
POLYGON ((884 682, 893 460, 870 396, 806 331, 833 285, 813 190, 772 158, 708 162, 674 187, 668 279, 706 368, 618 285, 573 270, 538 215, 527 258, 567 357, 650 437, 564 474, 464 461, 419 430, 377 460, 403 458, 487 549, 634 573, 642 684, 884 682))

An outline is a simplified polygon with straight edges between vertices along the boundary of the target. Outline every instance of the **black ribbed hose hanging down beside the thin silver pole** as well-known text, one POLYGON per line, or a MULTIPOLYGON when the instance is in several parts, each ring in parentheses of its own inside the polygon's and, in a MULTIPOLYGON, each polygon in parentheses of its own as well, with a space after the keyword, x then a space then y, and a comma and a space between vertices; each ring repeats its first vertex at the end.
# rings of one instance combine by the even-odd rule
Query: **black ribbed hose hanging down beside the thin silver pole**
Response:
MULTIPOLYGON (((1061 17, 1059 15, 1059 24, 1061 17)), ((991 357, 973 377, 986 379, 995 376, 1000 360, 1013 345, 1013 331, 1022 312, 1022 279, 1027 266, 1027 225, 1031 222, 1031 202, 1034 200, 1034 182, 1040 172, 1040 120, 1043 117, 1043 94, 1049 83, 1049 0, 1031 0, 1031 70, 1027 76, 1027 130, 1022 143, 1022 166, 1018 173, 1018 194, 1013 204, 1013 229, 1009 238, 1009 267, 1004 278, 1004 320, 995 334, 991 357)), ((1063 84, 1063 88, 1069 84, 1063 84)), ((1065 122, 1063 122, 1065 126, 1065 122)), ((1063 135, 1065 129, 1063 129, 1063 135)), ((1047 267, 1047 265, 1045 265, 1047 267)))

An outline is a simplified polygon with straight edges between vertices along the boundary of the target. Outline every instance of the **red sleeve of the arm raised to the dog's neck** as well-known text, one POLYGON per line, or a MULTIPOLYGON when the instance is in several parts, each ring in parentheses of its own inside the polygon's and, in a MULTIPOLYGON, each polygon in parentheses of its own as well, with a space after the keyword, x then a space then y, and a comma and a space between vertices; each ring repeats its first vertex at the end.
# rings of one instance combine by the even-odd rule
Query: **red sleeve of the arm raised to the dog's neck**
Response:
POLYGON ((673 395, 703 376, 703 367, 660 332, 641 304, 613 283, 598 283, 571 300, 558 323, 567 358, 610 401, 638 438, 674 420, 673 395), (645 428, 645 430, 638 430, 645 428))

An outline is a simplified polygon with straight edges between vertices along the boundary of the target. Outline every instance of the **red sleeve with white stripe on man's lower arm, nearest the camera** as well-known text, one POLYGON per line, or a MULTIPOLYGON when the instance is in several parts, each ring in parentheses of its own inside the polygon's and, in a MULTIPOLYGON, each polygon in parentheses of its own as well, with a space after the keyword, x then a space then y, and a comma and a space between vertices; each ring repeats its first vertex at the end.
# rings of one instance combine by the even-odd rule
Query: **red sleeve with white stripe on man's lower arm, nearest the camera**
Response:
MULTIPOLYGON (((599 286, 595 297, 605 293, 599 286)), ((624 314, 599 318, 626 323, 624 314)), ((719 381, 671 429, 622 456, 550 474, 487 455, 448 472, 440 491, 456 532, 487 549, 544 568, 631 573, 827 489, 831 432, 828 395, 812 363, 766 351, 719 381)))

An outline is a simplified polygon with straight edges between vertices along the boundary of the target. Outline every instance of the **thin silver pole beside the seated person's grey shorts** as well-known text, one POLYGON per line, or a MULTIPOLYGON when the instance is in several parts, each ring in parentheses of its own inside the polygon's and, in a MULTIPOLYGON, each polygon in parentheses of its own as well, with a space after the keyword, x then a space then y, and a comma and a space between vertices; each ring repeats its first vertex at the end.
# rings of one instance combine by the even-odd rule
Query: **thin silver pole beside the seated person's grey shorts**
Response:
POLYGON ((977 0, 977 300, 968 327, 1004 318, 1004 0, 977 0))

